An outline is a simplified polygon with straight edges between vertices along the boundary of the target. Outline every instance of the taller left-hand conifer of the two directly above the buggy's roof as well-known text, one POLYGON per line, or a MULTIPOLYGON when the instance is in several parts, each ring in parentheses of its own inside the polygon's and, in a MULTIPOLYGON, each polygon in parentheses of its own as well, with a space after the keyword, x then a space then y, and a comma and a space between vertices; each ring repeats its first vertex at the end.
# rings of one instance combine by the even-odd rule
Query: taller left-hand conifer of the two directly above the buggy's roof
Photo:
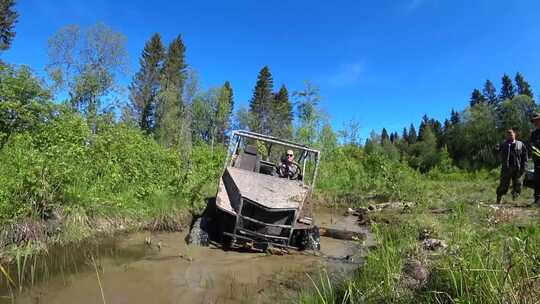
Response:
POLYGON ((253 90, 253 97, 249 103, 249 112, 252 116, 252 121, 249 126, 251 131, 271 134, 271 114, 274 94, 272 89, 274 80, 268 66, 265 66, 259 72, 257 84, 253 90))

